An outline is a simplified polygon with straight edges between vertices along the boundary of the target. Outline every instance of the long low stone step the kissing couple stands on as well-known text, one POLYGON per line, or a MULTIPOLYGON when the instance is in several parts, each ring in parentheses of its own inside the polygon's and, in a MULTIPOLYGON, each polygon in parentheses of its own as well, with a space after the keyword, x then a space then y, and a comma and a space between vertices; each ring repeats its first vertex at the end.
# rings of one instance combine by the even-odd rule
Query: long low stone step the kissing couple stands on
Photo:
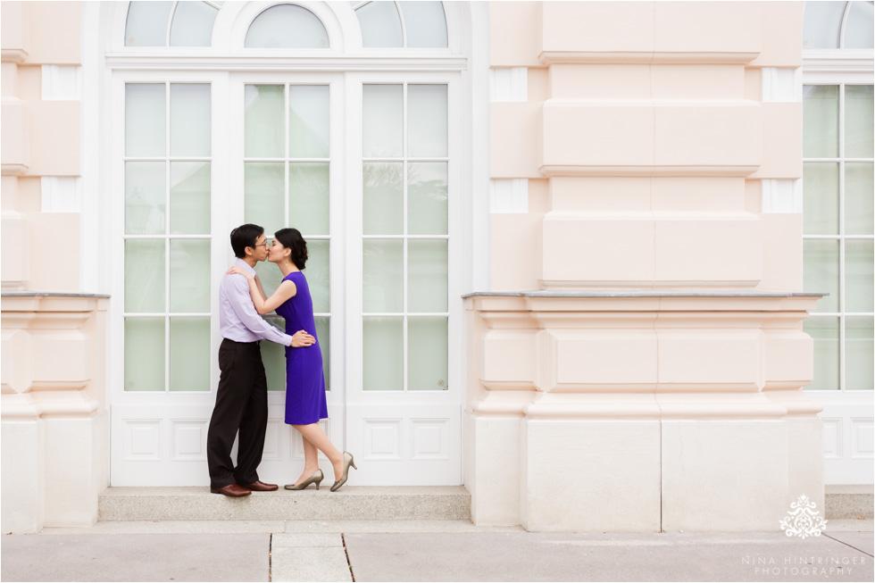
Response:
POLYGON ((463 486, 345 486, 254 492, 229 498, 208 487, 111 487, 100 521, 451 521, 471 520, 463 486))

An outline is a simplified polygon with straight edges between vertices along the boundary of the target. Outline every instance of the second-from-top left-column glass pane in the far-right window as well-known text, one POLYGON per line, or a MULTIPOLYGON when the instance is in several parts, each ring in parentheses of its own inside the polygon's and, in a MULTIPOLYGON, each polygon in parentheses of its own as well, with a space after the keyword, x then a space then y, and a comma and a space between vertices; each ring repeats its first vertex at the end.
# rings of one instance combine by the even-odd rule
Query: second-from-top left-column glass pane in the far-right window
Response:
POLYGON ((838 164, 805 162, 802 165, 802 232, 838 234, 838 164))

